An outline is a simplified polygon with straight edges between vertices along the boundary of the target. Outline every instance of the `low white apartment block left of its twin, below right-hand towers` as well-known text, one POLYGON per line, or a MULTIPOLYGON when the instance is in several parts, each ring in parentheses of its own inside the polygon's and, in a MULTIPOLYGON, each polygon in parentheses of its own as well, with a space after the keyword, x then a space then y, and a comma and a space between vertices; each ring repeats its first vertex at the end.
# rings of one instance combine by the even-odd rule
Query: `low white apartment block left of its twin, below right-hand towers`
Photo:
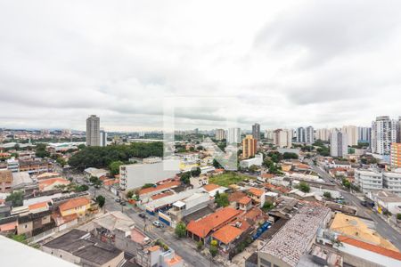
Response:
POLYGON ((381 190, 383 188, 383 176, 373 170, 356 170, 355 183, 363 191, 381 190))

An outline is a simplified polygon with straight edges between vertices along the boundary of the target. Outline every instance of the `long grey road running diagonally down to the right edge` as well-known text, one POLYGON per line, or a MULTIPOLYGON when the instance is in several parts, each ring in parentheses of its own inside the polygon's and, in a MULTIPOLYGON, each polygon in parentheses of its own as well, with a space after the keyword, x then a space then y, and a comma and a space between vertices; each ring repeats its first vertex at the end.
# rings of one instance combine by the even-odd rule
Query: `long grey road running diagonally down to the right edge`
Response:
MULTIPOLYGON (((316 173, 320 174, 320 176, 323 178, 324 181, 330 182, 332 180, 330 174, 324 171, 321 167, 314 166, 313 164, 310 164, 310 166, 312 166, 312 168, 316 173)), ((381 237, 383 237, 384 239, 388 239, 391 243, 393 243, 394 246, 396 246, 401 251, 401 235, 399 234, 398 231, 392 228, 389 225, 389 223, 386 223, 381 218, 381 216, 372 211, 371 208, 362 206, 361 199, 357 198, 354 194, 346 190, 343 190, 342 187, 340 186, 340 182, 336 182, 336 189, 341 192, 341 195, 348 203, 351 203, 353 206, 357 207, 358 215, 372 219, 372 221, 376 225, 376 231, 381 235, 381 237)))

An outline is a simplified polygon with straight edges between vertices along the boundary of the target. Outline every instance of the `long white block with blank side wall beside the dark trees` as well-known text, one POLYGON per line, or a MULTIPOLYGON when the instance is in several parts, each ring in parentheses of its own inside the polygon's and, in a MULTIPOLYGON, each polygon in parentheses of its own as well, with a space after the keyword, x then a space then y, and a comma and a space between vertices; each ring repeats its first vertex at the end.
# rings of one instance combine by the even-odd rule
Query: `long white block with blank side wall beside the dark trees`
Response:
POLYGON ((119 166, 121 190, 136 189, 145 183, 155 183, 173 178, 179 173, 179 160, 162 160, 156 163, 119 166))

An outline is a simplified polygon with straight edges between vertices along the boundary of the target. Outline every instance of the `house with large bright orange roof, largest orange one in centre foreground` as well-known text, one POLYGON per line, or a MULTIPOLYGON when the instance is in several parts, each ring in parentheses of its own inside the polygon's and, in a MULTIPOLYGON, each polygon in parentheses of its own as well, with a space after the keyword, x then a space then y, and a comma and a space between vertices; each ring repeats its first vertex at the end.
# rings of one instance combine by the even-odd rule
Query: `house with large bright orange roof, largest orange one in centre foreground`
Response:
POLYGON ((233 222, 241 213, 240 210, 226 206, 198 221, 191 221, 188 223, 186 231, 192 239, 204 241, 212 232, 233 222))

